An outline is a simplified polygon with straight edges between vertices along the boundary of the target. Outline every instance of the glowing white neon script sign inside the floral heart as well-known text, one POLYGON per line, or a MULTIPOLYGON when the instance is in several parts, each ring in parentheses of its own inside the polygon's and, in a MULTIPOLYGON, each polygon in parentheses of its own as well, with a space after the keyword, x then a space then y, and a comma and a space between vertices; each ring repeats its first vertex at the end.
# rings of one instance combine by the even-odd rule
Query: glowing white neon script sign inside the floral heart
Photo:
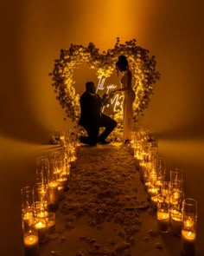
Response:
MULTIPOLYGON (((98 92, 98 90, 100 90, 100 91, 105 90, 105 93, 109 94, 109 92, 112 89, 118 88, 118 85, 116 85, 116 84, 109 84, 109 85, 105 86, 105 79, 106 79, 106 77, 104 77, 104 76, 102 76, 99 79, 99 83, 98 83, 96 92, 98 92)), ((124 95, 120 95, 119 93, 115 94, 114 97, 111 99, 111 104, 107 104, 106 106, 104 106, 102 108, 102 111, 104 112, 105 108, 111 107, 113 112, 117 112, 118 109, 122 109, 123 102, 124 102, 124 95)))

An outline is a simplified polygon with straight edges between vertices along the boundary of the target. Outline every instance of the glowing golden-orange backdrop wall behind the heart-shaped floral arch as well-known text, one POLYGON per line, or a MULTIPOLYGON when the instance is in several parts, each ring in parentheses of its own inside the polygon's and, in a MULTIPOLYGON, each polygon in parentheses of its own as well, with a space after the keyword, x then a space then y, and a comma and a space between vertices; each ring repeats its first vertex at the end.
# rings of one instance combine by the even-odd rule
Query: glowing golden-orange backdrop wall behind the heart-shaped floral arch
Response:
MULTIPOLYGON (((48 73, 70 43, 99 49, 137 39, 155 55, 162 74, 144 121, 150 130, 175 135, 203 128, 201 72, 202 0, 18 0, 1 3, 0 134, 47 141, 69 127, 48 73)), ((96 80, 80 69, 76 89, 96 80)))

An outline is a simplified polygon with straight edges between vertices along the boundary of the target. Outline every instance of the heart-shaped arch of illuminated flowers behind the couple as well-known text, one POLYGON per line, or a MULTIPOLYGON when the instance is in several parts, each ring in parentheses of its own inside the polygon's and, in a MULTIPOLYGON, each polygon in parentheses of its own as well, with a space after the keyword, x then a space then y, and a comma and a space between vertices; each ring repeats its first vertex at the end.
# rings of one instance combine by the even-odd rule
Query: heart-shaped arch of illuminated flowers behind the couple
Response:
MULTIPOLYGON (((136 42, 133 39, 123 44, 118 37, 114 48, 102 53, 99 53, 93 43, 89 43, 87 47, 71 44, 69 49, 61 49, 60 58, 54 61, 54 70, 49 75, 52 75, 54 81, 52 85, 57 94, 56 99, 65 108, 68 118, 76 123, 80 118, 80 95, 75 93, 74 69, 78 69, 81 62, 86 62, 90 69, 96 70, 99 79, 102 76, 110 77, 118 56, 124 55, 132 71, 132 87, 136 92, 134 121, 138 121, 138 117, 143 115, 143 110, 149 105, 150 95, 153 94, 154 84, 159 80, 160 73, 156 70, 156 57, 149 56, 149 50, 137 46, 136 42)), ((116 115, 121 116, 121 113, 116 113, 114 117, 116 115)), ((122 119, 118 119, 122 122, 122 119)))

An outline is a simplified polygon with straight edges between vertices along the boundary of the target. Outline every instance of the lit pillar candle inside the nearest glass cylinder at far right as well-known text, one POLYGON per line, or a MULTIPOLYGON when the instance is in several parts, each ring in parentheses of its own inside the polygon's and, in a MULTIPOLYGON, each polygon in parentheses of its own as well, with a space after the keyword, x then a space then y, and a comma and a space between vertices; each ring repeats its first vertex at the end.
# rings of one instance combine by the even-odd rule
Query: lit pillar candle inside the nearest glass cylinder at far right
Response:
POLYGON ((194 255, 195 237, 194 232, 182 230, 182 255, 194 255))

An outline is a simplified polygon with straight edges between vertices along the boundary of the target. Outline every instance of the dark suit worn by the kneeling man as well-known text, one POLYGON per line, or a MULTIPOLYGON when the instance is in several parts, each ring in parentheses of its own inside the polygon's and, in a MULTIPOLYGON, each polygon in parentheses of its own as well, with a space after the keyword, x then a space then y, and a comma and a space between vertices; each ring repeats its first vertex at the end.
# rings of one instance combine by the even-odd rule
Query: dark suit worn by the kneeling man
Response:
POLYGON ((117 126, 117 122, 111 117, 101 113, 103 99, 98 94, 86 91, 80 97, 80 121, 79 125, 86 129, 88 137, 82 137, 81 142, 95 146, 97 142, 105 141, 117 126), (99 135, 99 128, 105 127, 104 132, 99 135), (99 136, 99 137, 98 137, 99 136))

